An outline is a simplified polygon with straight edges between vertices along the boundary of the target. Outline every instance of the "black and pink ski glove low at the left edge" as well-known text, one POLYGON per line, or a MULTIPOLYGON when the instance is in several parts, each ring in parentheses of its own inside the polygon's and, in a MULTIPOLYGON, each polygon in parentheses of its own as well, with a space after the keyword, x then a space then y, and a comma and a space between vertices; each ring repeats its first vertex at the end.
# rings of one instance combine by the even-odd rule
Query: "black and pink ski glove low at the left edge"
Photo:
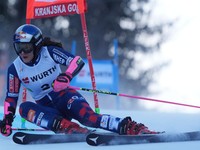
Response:
POLYGON ((9 136, 12 134, 12 122, 13 122, 13 114, 5 115, 3 121, 1 121, 1 134, 4 136, 9 136))

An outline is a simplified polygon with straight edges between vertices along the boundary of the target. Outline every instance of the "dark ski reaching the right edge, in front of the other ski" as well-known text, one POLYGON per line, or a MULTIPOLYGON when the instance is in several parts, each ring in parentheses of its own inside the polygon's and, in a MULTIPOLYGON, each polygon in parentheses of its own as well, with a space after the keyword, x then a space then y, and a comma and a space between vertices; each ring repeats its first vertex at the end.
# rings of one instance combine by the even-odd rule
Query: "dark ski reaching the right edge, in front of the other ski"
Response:
POLYGON ((171 134, 170 133, 143 134, 143 135, 117 135, 117 134, 90 133, 86 137, 86 142, 92 146, 183 142, 183 141, 197 141, 197 140, 200 140, 200 131, 171 133, 171 134))

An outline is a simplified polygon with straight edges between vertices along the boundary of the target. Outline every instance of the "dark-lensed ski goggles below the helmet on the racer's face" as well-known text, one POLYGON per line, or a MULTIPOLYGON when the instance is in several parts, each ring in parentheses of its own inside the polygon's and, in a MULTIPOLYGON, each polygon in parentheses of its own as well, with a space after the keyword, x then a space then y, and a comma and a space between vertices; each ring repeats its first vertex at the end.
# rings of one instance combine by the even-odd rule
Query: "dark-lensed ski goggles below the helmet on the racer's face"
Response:
POLYGON ((22 51, 26 54, 34 50, 32 43, 14 43, 15 51, 20 54, 22 51))

